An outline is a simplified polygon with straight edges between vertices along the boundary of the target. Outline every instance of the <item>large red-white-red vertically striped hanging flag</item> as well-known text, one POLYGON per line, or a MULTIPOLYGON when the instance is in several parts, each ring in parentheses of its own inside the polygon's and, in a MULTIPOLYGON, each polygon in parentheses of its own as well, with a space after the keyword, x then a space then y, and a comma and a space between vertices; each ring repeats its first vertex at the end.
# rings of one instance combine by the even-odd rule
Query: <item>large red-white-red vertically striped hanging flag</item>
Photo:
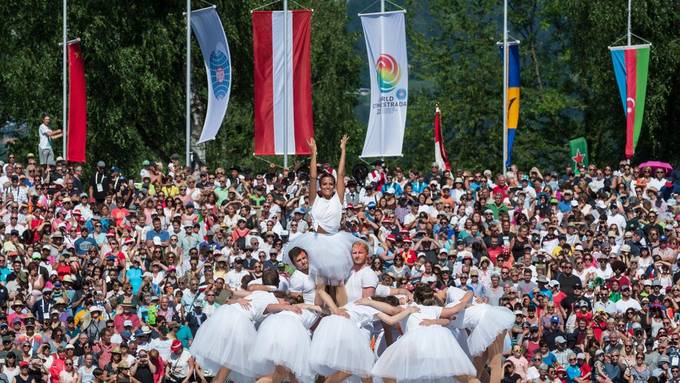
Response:
POLYGON ((282 155, 286 141, 288 154, 310 154, 307 139, 314 137, 312 11, 288 11, 287 17, 288 33, 285 33, 283 11, 252 13, 256 155, 282 155), (288 105, 284 105, 286 74, 288 105))

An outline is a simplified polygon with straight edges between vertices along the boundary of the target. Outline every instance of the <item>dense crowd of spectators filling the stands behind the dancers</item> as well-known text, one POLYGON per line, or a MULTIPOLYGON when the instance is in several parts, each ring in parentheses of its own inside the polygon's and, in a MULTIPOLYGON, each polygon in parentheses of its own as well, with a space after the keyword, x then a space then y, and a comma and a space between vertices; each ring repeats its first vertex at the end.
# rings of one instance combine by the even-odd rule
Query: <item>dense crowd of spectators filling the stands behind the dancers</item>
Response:
MULTIPOLYGON (((192 335, 264 270, 285 283, 283 248, 312 227, 307 173, 173 155, 85 179, 56 160, 0 167, 0 382, 210 381, 192 335)), ((371 245, 380 284, 515 313, 504 381, 680 382, 679 174, 377 162, 344 181, 342 227, 371 245)))

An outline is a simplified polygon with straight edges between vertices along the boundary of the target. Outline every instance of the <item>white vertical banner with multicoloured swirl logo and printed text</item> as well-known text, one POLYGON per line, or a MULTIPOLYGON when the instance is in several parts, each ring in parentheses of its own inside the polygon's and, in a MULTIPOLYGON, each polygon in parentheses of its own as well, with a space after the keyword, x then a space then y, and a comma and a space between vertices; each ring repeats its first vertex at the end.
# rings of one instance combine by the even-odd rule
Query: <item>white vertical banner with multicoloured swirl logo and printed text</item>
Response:
POLYGON ((371 113, 362 157, 402 155, 408 106, 405 11, 360 14, 371 75, 371 113))

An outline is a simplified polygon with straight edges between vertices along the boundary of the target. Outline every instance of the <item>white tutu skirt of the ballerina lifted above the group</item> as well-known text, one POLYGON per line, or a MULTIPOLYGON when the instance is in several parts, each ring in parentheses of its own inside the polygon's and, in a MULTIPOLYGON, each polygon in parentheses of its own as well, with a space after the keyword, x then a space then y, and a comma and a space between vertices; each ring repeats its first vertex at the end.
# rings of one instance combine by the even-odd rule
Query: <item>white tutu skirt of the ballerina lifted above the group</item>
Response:
POLYGON ((290 241, 285 249, 285 261, 292 264, 288 251, 299 247, 309 257, 309 276, 315 281, 338 285, 349 277, 352 262, 352 245, 361 241, 346 231, 335 234, 306 232, 290 241))

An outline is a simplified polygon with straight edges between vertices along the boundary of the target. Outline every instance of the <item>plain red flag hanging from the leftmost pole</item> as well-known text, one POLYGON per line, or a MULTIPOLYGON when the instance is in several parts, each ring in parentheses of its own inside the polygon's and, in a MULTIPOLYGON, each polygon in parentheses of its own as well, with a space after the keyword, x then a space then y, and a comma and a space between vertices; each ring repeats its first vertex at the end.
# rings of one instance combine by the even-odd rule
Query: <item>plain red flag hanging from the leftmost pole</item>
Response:
POLYGON ((85 162, 87 143, 87 93, 85 67, 80 43, 68 46, 69 97, 68 129, 66 131, 66 161, 85 162))

